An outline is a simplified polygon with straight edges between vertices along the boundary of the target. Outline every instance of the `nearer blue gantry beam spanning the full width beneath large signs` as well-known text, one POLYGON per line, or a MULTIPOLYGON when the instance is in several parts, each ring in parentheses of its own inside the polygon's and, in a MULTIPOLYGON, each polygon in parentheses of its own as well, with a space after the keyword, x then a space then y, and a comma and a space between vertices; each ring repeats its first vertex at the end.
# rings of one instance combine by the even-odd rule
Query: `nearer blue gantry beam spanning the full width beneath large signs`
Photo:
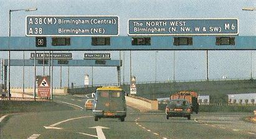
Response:
MULTIPOLYGON (((0 51, 100 51, 100 50, 256 50, 256 36, 140 36, 140 37, 110 37, 108 45, 92 43, 92 37, 70 37, 69 45, 55 45, 52 37, 0 37, 0 51), (189 45, 177 45, 174 38, 191 37, 189 45), (234 43, 231 45, 217 45, 218 37, 232 37, 234 43), (133 40, 148 38, 149 43, 133 44, 133 40), (38 39, 41 39, 40 41, 38 39), (45 39, 45 40, 44 40, 45 39), (37 40, 37 41, 36 41, 37 40), (45 41, 45 42, 43 42, 45 41), (44 47, 36 47, 36 42, 45 43, 44 47)), ((138 40, 139 42, 141 40, 138 40)), ((143 40, 142 40, 143 41, 143 40)), ((229 41, 229 40, 227 40, 229 41)))

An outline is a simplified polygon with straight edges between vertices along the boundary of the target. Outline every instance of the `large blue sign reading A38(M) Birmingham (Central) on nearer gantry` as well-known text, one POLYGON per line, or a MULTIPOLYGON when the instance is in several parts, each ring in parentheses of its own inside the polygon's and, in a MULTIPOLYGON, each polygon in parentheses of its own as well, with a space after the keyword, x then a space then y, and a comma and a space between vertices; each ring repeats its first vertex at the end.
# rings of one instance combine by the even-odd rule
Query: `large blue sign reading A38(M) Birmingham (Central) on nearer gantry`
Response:
POLYGON ((117 16, 27 16, 27 36, 118 36, 117 16))

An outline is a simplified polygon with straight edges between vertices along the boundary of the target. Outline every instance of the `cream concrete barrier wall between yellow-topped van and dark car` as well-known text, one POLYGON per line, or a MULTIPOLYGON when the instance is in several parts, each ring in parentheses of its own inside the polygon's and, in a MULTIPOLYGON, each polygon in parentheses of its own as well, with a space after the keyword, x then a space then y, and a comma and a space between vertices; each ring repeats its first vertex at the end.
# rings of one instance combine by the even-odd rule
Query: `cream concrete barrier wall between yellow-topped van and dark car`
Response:
POLYGON ((136 97, 130 95, 126 96, 125 99, 126 103, 136 105, 138 107, 141 107, 141 109, 158 110, 158 101, 151 101, 143 97, 136 97))

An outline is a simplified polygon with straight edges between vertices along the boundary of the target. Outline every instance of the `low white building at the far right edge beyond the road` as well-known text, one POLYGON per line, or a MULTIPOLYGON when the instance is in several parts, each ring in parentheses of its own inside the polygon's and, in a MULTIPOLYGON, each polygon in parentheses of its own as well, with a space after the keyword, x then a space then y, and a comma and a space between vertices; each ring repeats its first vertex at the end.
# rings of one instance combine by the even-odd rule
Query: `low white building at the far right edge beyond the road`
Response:
POLYGON ((229 104, 255 104, 256 93, 228 94, 229 104))

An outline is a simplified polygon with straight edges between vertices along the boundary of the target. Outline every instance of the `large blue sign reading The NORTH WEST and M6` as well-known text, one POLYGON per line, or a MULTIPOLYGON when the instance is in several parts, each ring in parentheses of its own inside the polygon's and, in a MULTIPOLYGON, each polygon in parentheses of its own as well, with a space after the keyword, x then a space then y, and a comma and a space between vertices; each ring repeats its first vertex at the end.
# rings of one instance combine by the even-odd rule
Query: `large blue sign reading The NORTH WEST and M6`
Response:
POLYGON ((130 19, 128 35, 237 35, 238 19, 130 19))

